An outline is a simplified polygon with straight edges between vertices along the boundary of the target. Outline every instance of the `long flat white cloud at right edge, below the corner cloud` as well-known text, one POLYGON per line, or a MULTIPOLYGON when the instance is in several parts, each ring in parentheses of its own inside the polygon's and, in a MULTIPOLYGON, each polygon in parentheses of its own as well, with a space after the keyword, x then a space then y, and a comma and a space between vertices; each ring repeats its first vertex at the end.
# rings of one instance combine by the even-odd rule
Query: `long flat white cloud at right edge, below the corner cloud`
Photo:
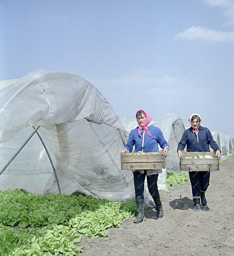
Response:
POLYGON ((177 38, 188 40, 203 40, 208 42, 234 42, 234 32, 222 32, 214 29, 195 27, 184 29, 176 35, 177 38))

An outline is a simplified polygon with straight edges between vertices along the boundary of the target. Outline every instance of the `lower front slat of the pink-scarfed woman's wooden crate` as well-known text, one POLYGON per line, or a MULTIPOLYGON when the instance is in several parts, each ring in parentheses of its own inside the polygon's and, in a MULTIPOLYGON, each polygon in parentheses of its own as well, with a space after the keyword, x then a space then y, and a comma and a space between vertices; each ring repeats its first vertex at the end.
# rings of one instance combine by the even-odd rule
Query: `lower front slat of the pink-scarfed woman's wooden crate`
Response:
POLYGON ((154 162, 154 163, 121 163, 122 170, 147 170, 147 169, 164 169, 165 162, 154 162))

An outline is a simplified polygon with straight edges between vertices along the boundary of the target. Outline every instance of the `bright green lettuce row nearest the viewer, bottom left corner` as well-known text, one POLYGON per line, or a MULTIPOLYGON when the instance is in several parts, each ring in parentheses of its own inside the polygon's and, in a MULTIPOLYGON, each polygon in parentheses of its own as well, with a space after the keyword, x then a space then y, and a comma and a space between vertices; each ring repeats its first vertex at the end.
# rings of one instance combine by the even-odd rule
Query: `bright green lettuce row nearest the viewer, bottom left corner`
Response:
POLYGON ((84 251, 74 245, 80 243, 82 236, 63 225, 14 230, 0 223, 0 255, 77 255, 84 251))

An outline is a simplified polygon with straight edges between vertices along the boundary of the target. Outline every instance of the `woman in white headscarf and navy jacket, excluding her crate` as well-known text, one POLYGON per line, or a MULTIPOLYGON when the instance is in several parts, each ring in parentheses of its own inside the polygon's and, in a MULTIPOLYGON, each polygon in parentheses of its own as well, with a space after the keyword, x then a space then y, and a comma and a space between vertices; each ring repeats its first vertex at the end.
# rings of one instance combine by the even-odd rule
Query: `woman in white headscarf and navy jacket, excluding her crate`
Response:
MULTIPOLYGON (((182 156, 182 150, 187 145, 187 152, 209 152, 210 147, 216 150, 216 155, 220 157, 221 150, 208 128, 202 127, 201 116, 192 114, 188 119, 191 127, 184 131, 181 141, 178 144, 178 157, 182 156)), ((210 172, 189 172, 192 186, 192 195, 195 209, 200 208, 200 203, 206 206, 206 190, 210 184, 210 172), (201 199, 201 202, 200 202, 201 199)))

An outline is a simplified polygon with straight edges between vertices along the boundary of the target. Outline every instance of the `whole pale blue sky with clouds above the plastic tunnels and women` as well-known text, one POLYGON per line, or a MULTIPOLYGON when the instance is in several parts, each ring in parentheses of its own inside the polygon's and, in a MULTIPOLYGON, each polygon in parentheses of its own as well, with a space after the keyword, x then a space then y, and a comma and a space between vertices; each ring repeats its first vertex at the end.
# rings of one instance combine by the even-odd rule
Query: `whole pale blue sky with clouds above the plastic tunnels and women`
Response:
POLYGON ((0 0, 0 80, 78 74, 118 115, 199 113, 234 136, 234 1, 0 0))

